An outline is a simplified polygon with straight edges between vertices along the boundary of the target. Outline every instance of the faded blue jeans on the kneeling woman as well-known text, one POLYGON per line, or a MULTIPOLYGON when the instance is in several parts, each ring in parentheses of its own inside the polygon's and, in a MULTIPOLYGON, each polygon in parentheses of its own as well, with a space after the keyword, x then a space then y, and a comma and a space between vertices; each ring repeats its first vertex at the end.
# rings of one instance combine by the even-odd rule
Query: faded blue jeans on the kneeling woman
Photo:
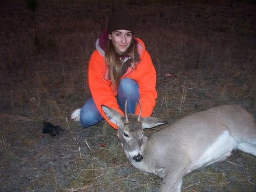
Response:
MULTIPOLYGON (((127 114, 135 113, 137 102, 140 98, 138 83, 130 78, 121 79, 117 90, 117 103, 124 112, 125 101, 127 99, 127 114)), ((83 127, 95 125, 103 119, 99 113, 93 98, 89 98, 82 106, 80 121, 83 127)))

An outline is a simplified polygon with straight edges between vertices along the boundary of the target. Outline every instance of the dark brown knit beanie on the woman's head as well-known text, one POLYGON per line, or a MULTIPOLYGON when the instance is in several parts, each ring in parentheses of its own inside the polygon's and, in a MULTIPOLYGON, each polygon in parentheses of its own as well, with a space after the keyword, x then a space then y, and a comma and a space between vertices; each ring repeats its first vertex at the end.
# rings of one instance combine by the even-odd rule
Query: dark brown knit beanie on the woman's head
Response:
POLYGON ((108 23, 108 34, 116 30, 134 31, 133 17, 123 4, 115 3, 108 23))

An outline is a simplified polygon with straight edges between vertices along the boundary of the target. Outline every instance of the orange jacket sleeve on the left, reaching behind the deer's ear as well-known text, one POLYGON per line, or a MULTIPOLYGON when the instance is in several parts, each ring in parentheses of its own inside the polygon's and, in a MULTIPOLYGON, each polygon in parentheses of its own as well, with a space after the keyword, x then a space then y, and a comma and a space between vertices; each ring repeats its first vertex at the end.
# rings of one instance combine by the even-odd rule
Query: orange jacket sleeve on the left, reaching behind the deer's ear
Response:
POLYGON ((90 58, 88 69, 88 81, 90 91, 93 100, 96 104, 96 107, 99 110, 102 117, 106 121, 108 121, 108 123, 111 126, 113 126, 114 129, 117 129, 116 124, 110 122, 109 119, 105 116, 103 110, 101 109, 101 105, 104 104, 116 110, 117 112, 123 114, 123 112, 119 109, 119 105, 117 103, 115 93, 112 90, 110 80, 106 81, 103 79, 104 69, 104 57, 101 56, 99 52, 95 50, 90 58))

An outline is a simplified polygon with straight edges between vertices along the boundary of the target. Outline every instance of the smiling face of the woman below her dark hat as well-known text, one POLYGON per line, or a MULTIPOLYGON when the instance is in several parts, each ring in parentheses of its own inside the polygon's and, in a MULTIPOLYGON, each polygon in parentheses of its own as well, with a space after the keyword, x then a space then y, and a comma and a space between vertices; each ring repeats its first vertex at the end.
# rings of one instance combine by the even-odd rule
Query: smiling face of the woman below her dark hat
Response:
POLYGON ((109 34, 109 39, 112 40, 116 52, 122 55, 131 45, 133 34, 127 30, 117 30, 109 34))

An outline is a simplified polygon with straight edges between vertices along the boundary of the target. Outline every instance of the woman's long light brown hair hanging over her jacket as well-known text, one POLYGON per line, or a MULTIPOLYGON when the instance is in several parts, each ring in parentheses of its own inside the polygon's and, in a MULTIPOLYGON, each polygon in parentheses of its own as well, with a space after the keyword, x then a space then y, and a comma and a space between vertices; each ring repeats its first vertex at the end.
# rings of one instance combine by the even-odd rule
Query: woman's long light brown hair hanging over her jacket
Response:
POLYGON ((117 91, 120 78, 122 74, 122 62, 120 61, 121 56, 129 55, 131 57, 131 62, 134 63, 134 57, 137 53, 137 41, 135 38, 132 39, 130 47, 126 50, 123 55, 119 55, 113 45, 111 39, 108 39, 105 51, 105 63, 109 67, 109 78, 111 80, 112 86, 117 91))

